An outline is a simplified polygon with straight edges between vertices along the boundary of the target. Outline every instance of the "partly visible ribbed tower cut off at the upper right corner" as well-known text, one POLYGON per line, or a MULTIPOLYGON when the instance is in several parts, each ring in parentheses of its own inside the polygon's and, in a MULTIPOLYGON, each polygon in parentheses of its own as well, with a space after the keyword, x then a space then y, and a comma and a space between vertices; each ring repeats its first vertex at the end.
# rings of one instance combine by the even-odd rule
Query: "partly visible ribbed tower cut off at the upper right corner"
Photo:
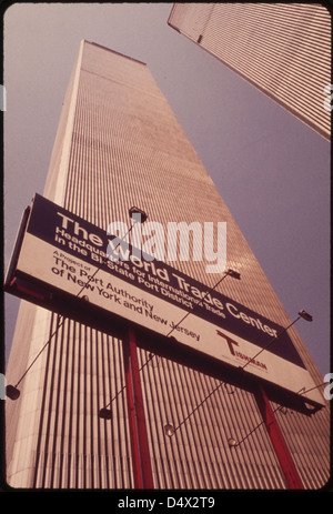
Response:
POLYGON ((326 8, 297 2, 175 3, 169 24, 330 140, 326 8))

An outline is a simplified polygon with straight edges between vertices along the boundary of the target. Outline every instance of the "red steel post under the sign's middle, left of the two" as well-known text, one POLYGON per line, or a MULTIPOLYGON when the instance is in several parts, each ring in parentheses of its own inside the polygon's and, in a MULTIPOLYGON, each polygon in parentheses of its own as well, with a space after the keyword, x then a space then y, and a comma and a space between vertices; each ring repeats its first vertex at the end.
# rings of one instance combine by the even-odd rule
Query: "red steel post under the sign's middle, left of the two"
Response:
POLYGON ((140 383, 137 337, 132 329, 123 341, 127 400, 135 488, 153 488, 153 477, 140 383))

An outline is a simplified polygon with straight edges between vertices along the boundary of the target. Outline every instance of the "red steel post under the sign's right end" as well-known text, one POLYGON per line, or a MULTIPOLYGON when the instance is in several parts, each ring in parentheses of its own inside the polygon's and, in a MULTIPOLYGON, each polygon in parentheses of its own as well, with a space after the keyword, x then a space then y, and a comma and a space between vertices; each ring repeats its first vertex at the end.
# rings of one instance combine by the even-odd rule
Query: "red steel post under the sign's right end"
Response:
POLYGON ((291 490, 303 490, 304 486, 302 480, 299 475, 292 455, 283 437, 276 417, 274 416, 265 390, 261 385, 259 385, 258 391, 254 394, 254 397, 261 412, 268 433, 270 435, 273 447, 275 450, 276 457, 282 467, 287 487, 291 490))

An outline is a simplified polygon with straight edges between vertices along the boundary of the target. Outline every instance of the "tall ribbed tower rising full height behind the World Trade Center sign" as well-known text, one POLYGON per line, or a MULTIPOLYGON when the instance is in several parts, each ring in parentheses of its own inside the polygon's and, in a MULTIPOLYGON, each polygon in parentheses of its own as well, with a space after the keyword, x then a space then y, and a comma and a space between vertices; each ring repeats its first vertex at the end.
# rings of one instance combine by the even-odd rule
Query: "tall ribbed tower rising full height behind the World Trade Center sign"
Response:
MULTIPOLYGON (((220 294, 223 312, 228 306, 244 331, 269 332, 271 322, 287 329, 299 359, 289 365, 306 372, 323 399, 319 370, 144 63, 81 42, 43 195, 104 231, 115 220, 129 223, 133 205, 165 232, 169 222, 225 222, 226 272, 206 273, 203 260, 178 259, 175 275, 220 294)), ((196 243, 191 239, 193 248, 196 243)), ((178 294, 185 302, 185 293, 169 289, 167 300, 178 294)), ((216 300, 215 310, 221 305, 216 300)), ((184 303, 178 309, 188 315, 184 303)), ((95 324, 70 315, 60 323, 60 318, 21 302, 7 370, 7 384, 18 385, 22 377, 19 397, 6 401, 8 484, 134 488, 122 340, 112 326, 97 326, 98 316, 95 324), (101 415, 105 409, 110 416, 101 415)), ((222 321, 212 344, 223 346, 238 365, 220 363, 212 353, 205 359, 204 349, 178 346, 181 336, 185 343, 186 336, 194 339, 198 320, 190 312, 188 332, 174 331, 172 341, 151 335, 138 343, 151 488, 282 490, 291 487, 289 473, 301 488, 322 487, 330 466, 327 402, 303 409, 294 399, 297 391, 289 396, 282 386, 275 394, 280 389, 264 379, 266 393, 260 396, 253 373, 264 376, 264 359, 272 353, 252 341, 261 355, 251 359, 256 352, 246 354, 236 346, 240 340, 221 336, 222 321), (279 444, 290 454, 289 464, 281 451, 279 456, 279 444)))

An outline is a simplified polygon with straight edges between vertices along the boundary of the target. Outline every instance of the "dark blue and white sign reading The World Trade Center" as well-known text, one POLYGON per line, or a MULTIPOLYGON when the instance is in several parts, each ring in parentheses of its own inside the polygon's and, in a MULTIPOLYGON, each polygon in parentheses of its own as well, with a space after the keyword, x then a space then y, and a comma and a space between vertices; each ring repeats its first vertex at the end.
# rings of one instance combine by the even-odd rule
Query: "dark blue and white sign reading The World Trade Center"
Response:
MULTIPOLYGON (((164 262, 113 262, 108 244, 105 231, 37 194, 16 273, 291 392, 315 386, 283 327, 164 262)), ((315 389, 306 399, 323 404, 315 389)))

